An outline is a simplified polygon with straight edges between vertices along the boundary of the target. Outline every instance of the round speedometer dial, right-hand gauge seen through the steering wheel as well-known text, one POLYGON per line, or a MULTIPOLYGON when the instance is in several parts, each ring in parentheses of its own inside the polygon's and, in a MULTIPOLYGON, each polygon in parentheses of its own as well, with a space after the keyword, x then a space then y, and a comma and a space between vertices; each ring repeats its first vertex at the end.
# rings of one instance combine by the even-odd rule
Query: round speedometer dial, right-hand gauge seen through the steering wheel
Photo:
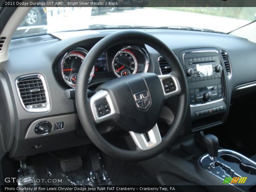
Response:
POLYGON ((117 77, 135 74, 138 70, 138 62, 133 52, 122 49, 116 53, 112 68, 117 77))

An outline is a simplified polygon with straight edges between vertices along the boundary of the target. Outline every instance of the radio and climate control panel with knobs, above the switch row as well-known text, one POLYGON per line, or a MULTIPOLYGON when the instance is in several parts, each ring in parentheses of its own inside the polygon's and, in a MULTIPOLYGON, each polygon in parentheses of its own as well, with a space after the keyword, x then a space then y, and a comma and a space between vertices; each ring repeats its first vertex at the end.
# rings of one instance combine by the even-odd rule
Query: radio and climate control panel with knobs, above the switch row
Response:
POLYGON ((191 105, 221 99, 222 70, 218 51, 183 54, 191 105))

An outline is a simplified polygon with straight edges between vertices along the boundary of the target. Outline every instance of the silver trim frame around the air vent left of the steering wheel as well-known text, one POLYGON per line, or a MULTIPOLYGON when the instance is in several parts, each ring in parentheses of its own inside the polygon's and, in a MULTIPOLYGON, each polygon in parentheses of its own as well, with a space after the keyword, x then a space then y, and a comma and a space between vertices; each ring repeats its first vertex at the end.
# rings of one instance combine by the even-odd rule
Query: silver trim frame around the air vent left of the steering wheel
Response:
POLYGON ((49 111, 50 110, 51 105, 50 105, 50 99, 49 99, 49 92, 48 92, 47 85, 46 85, 46 82, 45 82, 45 79, 44 79, 43 75, 41 75, 41 74, 31 74, 31 75, 19 76, 15 80, 15 84, 16 84, 16 90, 18 92, 18 96, 19 96, 19 99, 20 99, 20 103, 21 103, 22 107, 26 111, 29 111, 29 112, 45 112, 45 111, 49 111), (38 77, 38 78, 41 79, 41 81, 43 83, 43 86, 44 86, 44 93, 45 93, 45 98, 46 98, 46 106, 45 107, 41 107, 41 108, 27 108, 25 106, 25 104, 23 103, 23 100, 22 100, 21 95, 20 95, 20 89, 19 89, 18 83, 19 83, 19 79, 28 78, 28 77, 38 77))

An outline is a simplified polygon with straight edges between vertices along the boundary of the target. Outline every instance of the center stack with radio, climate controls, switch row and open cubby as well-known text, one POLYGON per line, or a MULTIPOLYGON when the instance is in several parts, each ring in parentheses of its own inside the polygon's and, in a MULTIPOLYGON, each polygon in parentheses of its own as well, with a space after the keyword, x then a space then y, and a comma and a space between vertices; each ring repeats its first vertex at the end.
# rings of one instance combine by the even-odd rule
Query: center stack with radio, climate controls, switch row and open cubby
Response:
POLYGON ((219 51, 191 49, 181 56, 187 74, 192 131, 222 123, 227 110, 226 75, 219 51))

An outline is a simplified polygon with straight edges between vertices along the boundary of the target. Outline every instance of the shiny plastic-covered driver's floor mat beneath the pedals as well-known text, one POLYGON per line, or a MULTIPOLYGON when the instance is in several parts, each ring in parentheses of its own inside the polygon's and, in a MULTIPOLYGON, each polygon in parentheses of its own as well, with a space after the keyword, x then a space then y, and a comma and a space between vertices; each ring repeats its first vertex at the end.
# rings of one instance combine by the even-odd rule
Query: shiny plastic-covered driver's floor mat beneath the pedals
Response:
POLYGON ((18 170, 18 179, 20 179, 18 185, 112 185, 100 155, 98 157, 101 165, 101 170, 99 171, 91 171, 88 157, 86 159, 83 158, 83 167, 81 169, 64 173, 61 170, 59 160, 55 157, 50 154, 36 156, 32 163, 30 162, 30 165, 28 164, 27 166, 29 175, 25 176, 21 168, 18 170), (39 179, 40 182, 37 182, 39 179))

